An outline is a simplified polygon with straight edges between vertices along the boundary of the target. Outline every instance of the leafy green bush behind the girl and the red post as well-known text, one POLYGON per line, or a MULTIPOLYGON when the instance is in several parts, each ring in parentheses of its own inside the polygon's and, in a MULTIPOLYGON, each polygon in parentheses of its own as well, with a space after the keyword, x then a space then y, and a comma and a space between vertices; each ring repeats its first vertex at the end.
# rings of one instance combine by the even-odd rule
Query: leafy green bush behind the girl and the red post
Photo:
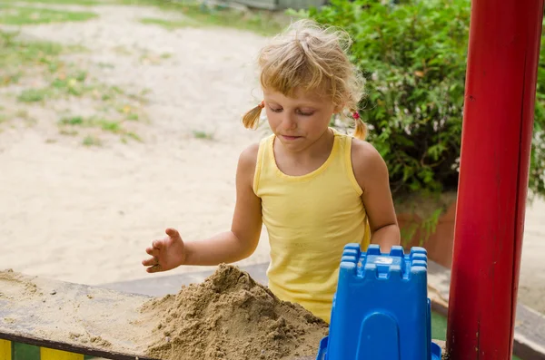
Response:
MULTIPOLYGON (((457 190, 470 0, 332 0, 299 13, 352 36, 366 78, 362 118, 397 198, 457 190), (382 2, 384 3, 384 2, 382 2)), ((540 58, 530 190, 545 195, 545 55, 540 58)))

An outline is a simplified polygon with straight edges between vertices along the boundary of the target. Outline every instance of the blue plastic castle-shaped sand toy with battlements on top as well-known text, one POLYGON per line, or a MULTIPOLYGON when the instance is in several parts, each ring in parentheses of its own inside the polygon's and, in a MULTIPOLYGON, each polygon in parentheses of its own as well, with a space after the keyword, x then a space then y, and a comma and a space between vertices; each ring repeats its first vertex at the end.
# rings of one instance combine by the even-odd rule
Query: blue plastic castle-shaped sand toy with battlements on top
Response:
POLYGON ((344 248, 329 336, 317 360, 441 360, 431 342, 428 257, 424 248, 400 246, 381 254, 344 248))

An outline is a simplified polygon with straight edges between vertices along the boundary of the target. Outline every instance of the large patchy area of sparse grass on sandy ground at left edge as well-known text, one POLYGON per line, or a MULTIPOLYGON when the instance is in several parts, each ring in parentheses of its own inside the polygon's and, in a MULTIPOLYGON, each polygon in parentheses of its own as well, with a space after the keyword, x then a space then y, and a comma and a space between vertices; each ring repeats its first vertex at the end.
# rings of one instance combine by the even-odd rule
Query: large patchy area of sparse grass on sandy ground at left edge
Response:
MULTIPOLYGON (((141 122, 147 118, 142 111, 145 102, 141 93, 127 93, 118 86, 113 86, 94 79, 79 65, 64 63, 62 54, 68 54, 71 47, 54 43, 25 42, 17 38, 16 33, 0 31, 0 80, 9 86, 31 76, 33 81, 40 80, 42 85, 23 87, 16 100, 25 104, 36 103, 46 106, 51 100, 67 99, 77 103, 77 99, 91 100, 95 114, 87 118, 81 116, 63 117, 58 125, 64 135, 84 136, 84 145, 97 146, 102 143, 96 136, 89 134, 89 129, 114 133, 122 141, 142 141, 140 137, 126 129, 124 122, 141 122)), ((80 50, 80 48, 77 48, 80 50)), ((15 92, 15 91, 14 91, 15 92)), ((21 107, 16 116, 3 114, 0 120, 21 119, 32 124, 25 107, 21 107), (9 116, 8 116, 9 115, 9 116)), ((34 121, 34 120, 33 120, 34 121)))

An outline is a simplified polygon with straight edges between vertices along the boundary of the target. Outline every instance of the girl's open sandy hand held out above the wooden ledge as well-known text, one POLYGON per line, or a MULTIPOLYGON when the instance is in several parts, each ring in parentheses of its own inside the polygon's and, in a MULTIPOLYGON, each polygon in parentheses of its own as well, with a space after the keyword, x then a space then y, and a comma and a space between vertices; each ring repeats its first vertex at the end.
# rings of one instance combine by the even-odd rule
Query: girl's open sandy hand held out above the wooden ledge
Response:
POLYGON ((185 247, 182 237, 175 229, 166 229, 168 238, 154 240, 151 248, 146 248, 145 252, 153 258, 146 258, 142 265, 148 273, 167 271, 183 265, 186 258, 185 247))

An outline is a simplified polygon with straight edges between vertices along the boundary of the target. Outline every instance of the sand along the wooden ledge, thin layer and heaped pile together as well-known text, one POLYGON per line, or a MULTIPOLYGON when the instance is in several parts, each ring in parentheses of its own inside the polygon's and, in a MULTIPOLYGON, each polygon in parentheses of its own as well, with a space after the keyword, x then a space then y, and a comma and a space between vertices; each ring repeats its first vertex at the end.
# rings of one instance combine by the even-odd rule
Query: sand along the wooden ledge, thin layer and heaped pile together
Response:
POLYGON ((11 269, 0 271, 0 288, 0 331, 154 359, 293 360, 315 356, 328 333, 321 319, 231 265, 166 297, 136 297, 11 269))

